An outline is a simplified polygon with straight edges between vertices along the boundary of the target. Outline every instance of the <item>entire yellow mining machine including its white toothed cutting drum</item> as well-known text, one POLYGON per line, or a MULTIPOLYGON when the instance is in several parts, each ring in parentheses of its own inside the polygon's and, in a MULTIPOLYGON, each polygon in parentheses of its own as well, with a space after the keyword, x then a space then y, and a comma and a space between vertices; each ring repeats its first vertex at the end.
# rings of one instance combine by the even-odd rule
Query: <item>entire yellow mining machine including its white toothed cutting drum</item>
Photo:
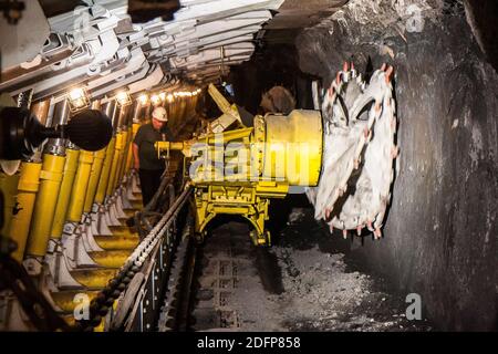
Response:
POLYGON ((242 124, 237 105, 210 84, 208 92, 222 115, 190 140, 156 143, 159 156, 169 150, 185 155, 197 238, 204 239, 217 215, 238 215, 253 226, 256 246, 270 246, 264 228, 270 199, 286 197, 292 187, 305 187, 315 218, 331 228, 344 235, 367 228, 378 238, 397 154, 392 71, 384 65, 366 84, 345 63, 324 95, 323 118, 320 111, 294 110, 256 115, 250 127, 242 124), (359 188, 344 196, 353 171, 359 188), (340 197, 345 199, 342 209, 332 212, 340 197))

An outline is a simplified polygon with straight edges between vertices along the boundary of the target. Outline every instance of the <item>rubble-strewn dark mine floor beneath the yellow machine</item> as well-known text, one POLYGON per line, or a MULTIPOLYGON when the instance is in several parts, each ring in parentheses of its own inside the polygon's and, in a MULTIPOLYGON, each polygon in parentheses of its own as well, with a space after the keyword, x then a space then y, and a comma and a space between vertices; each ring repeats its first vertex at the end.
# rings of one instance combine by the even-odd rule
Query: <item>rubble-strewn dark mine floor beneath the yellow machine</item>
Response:
POLYGON ((361 246, 330 235, 312 212, 277 217, 269 249, 250 244, 246 223, 220 221, 199 250, 190 330, 433 330, 425 319, 408 321, 406 294, 369 273, 355 254, 361 246))

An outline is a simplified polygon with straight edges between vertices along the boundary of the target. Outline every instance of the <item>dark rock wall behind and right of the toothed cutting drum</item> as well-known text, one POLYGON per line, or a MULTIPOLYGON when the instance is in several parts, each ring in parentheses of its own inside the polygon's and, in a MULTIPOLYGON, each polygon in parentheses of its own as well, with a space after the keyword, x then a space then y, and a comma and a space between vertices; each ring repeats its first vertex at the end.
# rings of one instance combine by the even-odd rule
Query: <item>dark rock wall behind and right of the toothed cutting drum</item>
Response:
POLYGON ((401 157, 393 204, 384 238, 367 238, 355 252, 400 291, 421 294, 436 327, 496 330, 497 4, 427 2, 435 11, 421 31, 402 35, 386 21, 396 13, 385 2, 375 17, 366 6, 345 10, 294 45, 259 49, 230 81, 251 113, 276 84, 295 95, 297 107, 312 108, 312 77, 328 87, 345 60, 362 73, 369 58, 374 69, 394 65, 401 157))

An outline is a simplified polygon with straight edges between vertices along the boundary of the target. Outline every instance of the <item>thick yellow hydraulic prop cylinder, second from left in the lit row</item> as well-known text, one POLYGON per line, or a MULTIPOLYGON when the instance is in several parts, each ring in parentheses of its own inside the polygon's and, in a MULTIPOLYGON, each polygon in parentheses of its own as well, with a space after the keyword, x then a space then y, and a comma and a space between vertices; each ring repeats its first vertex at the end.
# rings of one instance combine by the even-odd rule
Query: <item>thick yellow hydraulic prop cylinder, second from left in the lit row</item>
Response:
POLYGON ((33 220, 28 239, 27 254, 43 257, 46 253, 52 221, 61 189, 64 156, 43 155, 40 190, 34 202, 33 220))

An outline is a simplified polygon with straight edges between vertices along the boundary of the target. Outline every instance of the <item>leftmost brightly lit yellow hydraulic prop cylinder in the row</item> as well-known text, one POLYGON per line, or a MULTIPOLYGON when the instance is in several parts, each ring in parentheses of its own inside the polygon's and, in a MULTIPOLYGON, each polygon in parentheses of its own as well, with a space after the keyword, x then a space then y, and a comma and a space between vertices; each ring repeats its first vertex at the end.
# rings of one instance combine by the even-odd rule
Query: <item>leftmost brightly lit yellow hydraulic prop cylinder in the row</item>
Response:
POLYGON ((12 217, 9 236, 18 243, 12 258, 22 262, 25 242, 30 231, 34 199, 40 186, 41 163, 24 162, 21 166, 21 177, 18 185, 18 212, 12 217))

